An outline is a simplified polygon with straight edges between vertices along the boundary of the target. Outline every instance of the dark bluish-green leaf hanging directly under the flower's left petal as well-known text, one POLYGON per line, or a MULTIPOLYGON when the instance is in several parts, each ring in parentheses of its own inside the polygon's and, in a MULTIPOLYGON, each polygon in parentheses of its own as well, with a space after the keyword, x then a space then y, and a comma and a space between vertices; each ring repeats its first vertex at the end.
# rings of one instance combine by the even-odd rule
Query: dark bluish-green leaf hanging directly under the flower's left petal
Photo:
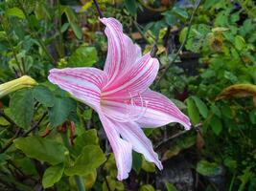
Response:
POLYGON ((55 103, 49 111, 50 124, 52 127, 56 127, 62 124, 72 112, 76 112, 77 103, 71 98, 56 97, 55 103))

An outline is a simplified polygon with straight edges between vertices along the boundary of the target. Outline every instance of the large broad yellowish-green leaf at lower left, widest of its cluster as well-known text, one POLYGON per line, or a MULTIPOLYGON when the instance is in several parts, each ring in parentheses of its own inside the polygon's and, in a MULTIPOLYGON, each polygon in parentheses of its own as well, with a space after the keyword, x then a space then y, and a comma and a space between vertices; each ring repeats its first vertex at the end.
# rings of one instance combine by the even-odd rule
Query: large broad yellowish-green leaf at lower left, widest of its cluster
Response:
POLYGON ((65 147, 54 140, 39 137, 16 138, 14 146, 20 149, 27 157, 47 161, 52 165, 63 162, 65 147))

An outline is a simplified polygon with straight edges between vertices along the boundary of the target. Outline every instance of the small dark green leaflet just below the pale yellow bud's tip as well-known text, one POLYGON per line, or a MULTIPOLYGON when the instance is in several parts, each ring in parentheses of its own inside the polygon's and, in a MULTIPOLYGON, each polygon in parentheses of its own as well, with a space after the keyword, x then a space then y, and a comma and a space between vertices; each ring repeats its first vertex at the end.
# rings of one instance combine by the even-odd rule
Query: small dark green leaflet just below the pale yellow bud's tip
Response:
POLYGON ((54 94, 46 86, 35 86, 35 88, 33 88, 33 96, 46 107, 53 107, 55 104, 54 94))

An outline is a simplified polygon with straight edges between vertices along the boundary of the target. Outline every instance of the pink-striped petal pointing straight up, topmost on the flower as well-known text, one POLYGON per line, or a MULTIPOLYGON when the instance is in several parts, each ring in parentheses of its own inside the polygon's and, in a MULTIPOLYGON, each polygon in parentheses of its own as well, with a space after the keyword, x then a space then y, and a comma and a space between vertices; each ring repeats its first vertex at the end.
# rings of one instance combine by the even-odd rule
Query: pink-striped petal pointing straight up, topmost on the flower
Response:
POLYGON ((141 49, 123 33, 122 24, 114 18, 100 19, 106 26, 107 56, 105 60, 105 73, 111 83, 118 75, 124 73, 135 61, 141 57, 141 49))

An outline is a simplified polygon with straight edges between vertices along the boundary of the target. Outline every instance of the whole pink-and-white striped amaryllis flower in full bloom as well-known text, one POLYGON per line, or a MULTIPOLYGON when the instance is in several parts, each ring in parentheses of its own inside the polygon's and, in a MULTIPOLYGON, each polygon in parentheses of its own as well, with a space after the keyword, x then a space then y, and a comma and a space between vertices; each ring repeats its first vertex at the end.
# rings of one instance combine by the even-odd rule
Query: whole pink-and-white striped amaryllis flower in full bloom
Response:
POLYGON ((132 149, 162 169, 142 128, 178 122, 185 129, 190 120, 166 96, 149 89, 159 62, 150 53, 141 54, 114 18, 102 18, 108 53, 104 71, 96 68, 52 69, 49 80, 89 105, 103 123, 118 169, 118 180, 128 178, 132 149))

